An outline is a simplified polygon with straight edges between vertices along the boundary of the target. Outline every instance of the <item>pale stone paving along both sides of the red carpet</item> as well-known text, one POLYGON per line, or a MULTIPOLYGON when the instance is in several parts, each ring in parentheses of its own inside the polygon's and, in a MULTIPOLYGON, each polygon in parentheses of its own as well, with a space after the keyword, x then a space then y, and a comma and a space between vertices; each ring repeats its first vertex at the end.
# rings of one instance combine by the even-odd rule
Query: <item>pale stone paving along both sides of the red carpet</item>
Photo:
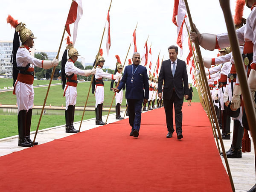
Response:
MULTIPOLYGON (((124 112, 121 113, 121 116, 124 116, 124 112)), ((125 116, 125 118, 127 118, 125 116)), ((103 116, 103 120, 106 119, 106 116, 103 116)), ((116 122, 115 113, 109 115, 108 123, 116 122)), ((231 125, 231 131, 233 131, 233 121, 231 125)), ((79 129, 80 122, 75 122, 74 127, 79 129)), ((86 131, 92 128, 96 128, 102 125, 95 125, 95 118, 84 120, 81 125, 81 131, 86 131)), ((129 133, 127 133, 129 134, 129 133)), ((186 133, 184 133, 186 137, 186 133)), ((31 132, 31 139, 33 140, 35 131, 31 132)), ((67 137, 71 134, 65 133, 65 125, 60 125, 57 127, 47 128, 44 130, 39 130, 37 134, 36 141, 39 144, 47 143, 49 141, 67 137)), ((23 150, 23 147, 18 147, 17 135, 13 137, 7 137, 0 139, 0 156, 10 154, 15 151, 23 150)), ((163 136, 165 137, 165 136, 163 136)), ((232 138, 232 135, 231 135, 232 138)), ((224 140, 224 146, 226 151, 230 148, 232 140, 224 140)), ((255 163, 254 163, 254 148, 253 142, 251 139, 251 151, 250 153, 243 153, 241 159, 228 159, 231 174, 233 177, 233 182, 236 188, 236 192, 246 192, 255 184, 255 163)), ((201 154, 202 156, 207 154, 201 154)), ((224 158, 221 157, 221 160, 225 166, 224 158)), ((212 165, 214 166, 214 165, 212 165)), ((218 186, 221 191, 221 186, 218 186)), ((198 189, 200 191, 200 189, 198 189)))

